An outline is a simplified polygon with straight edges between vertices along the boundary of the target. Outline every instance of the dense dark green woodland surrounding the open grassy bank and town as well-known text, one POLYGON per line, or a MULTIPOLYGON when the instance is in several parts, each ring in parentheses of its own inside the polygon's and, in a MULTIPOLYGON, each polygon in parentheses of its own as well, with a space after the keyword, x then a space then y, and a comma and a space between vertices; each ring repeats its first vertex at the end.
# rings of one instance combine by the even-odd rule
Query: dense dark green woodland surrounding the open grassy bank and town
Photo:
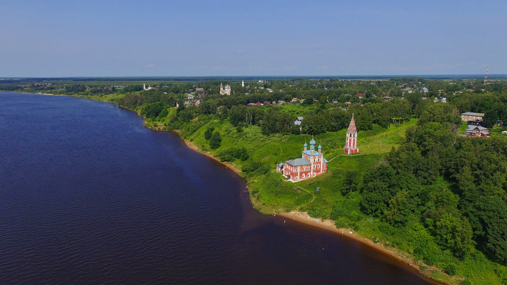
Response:
MULTIPOLYGON (((359 197, 360 217, 378 219, 380 231, 404 236, 413 255, 427 265, 444 267, 451 275, 456 271, 454 259, 481 262, 486 258, 507 264, 507 138, 500 134, 506 128, 497 126, 498 121, 507 122, 507 81, 295 78, 245 82, 245 87, 229 81, 159 82, 147 91, 142 84, 105 84, 4 82, 0 89, 83 97, 117 94, 113 100, 118 105, 139 112, 154 126, 177 129, 183 137, 216 119, 231 124, 238 133, 255 125, 264 136, 337 132, 347 128, 352 113, 359 135, 375 125, 388 128, 417 119, 407 129, 405 141, 375 165, 365 165, 364 173, 340 172, 341 195, 359 197), (218 95, 221 83, 230 84, 233 94, 218 95), (195 92, 195 88, 203 91, 195 92), (191 93, 199 98, 199 105, 185 103, 191 93), (293 98, 302 102, 291 103, 293 98), (446 102, 434 98, 446 98, 446 102), (280 100, 286 103, 247 106, 280 100), (494 135, 458 136, 463 112, 484 113, 484 126, 495 126, 494 135), (296 115, 304 117, 300 126, 294 124, 296 115)), ((204 132, 211 149, 219 149, 221 135, 209 127, 204 132)), ((219 155, 223 161, 244 161, 243 171, 251 175, 272 171, 249 158, 249 152, 235 148, 219 155)), ((331 205, 330 209, 314 216, 335 221, 348 217, 341 207, 331 205)), ((354 219, 348 221, 347 226, 354 226, 354 219)), ((507 283, 507 271, 502 268, 495 272, 507 283)))

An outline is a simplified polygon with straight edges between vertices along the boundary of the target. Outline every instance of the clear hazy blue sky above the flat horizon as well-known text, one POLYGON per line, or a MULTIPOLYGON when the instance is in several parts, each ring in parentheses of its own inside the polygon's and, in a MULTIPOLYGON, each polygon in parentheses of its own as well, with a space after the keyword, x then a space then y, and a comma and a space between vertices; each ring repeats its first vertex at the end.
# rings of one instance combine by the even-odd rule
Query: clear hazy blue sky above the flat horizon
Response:
POLYGON ((0 2, 0 77, 507 74, 507 1, 0 2))

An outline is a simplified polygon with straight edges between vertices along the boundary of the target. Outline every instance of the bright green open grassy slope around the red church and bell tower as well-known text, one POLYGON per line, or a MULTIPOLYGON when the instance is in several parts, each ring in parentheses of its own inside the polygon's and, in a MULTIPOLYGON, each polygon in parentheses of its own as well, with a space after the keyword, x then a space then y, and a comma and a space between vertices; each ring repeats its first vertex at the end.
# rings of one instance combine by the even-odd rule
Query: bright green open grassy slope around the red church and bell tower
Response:
MULTIPOLYGON (((121 96, 123 95, 111 94, 86 96, 86 98, 114 101, 121 96)), ((169 114, 172 114, 175 109, 169 111, 169 114)), ((293 110, 288 111, 294 113, 294 115, 300 115, 304 109, 293 108, 293 110)), ((269 165, 272 169, 271 172, 262 176, 248 177, 252 204, 261 212, 272 213, 280 210, 296 209, 308 211, 311 215, 320 218, 329 217, 333 207, 339 207, 343 209, 343 215, 335 221, 337 227, 350 227, 357 234, 371 238, 377 243, 383 243, 387 246, 392 245, 404 252, 412 253, 413 248, 407 243, 405 236, 386 235, 379 230, 377 225, 380 221, 378 219, 367 217, 360 211, 361 196, 359 193, 354 192, 343 196, 341 195, 341 187, 344 173, 347 170, 357 170, 361 173, 368 171, 374 163, 382 161, 392 147, 403 141, 407 127, 415 125, 416 122, 416 120, 411 120, 402 125, 390 126, 388 129, 374 125, 372 130, 360 131, 358 133, 360 151, 358 154, 350 156, 345 155, 342 151, 345 144, 346 130, 335 133, 327 132, 315 136, 317 144, 321 144, 323 147, 324 157, 328 160, 333 159, 329 163, 329 171, 324 175, 297 184, 282 181, 281 175, 274 171, 275 164, 301 157, 304 142, 311 139, 309 135, 281 136, 275 134, 264 136, 257 126, 245 127, 243 132, 238 133, 234 126, 229 123, 211 119, 186 139, 193 141, 201 151, 201 146, 204 146, 207 149, 206 152, 215 156, 219 151, 230 147, 245 147, 250 153, 250 158, 269 165), (214 127, 222 134, 222 145, 217 150, 210 150, 208 142, 204 139, 204 131, 209 126, 214 127), (317 192, 316 187, 321 190, 317 192)), ((165 122, 154 122, 153 125, 161 123, 165 122)), ((198 123, 198 121, 195 123, 198 123)), ((236 160, 228 164, 241 169, 243 163, 236 160)), ((474 258, 468 257, 461 261, 453 258, 453 262, 457 267, 457 275, 465 276, 466 280, 471 281, 473 284, 500 284, 501 279, 496 276, 493 270, 496 268, 507 270, 504 266, 499 266, 481 257, 481 255, 474 258)), ((424 266, 421 268, 424 268, 424 266)), ((459 283, 463 279, 452 278, 435 268, 427 268, 425 273, 433 279, 446 283, 459 283)))

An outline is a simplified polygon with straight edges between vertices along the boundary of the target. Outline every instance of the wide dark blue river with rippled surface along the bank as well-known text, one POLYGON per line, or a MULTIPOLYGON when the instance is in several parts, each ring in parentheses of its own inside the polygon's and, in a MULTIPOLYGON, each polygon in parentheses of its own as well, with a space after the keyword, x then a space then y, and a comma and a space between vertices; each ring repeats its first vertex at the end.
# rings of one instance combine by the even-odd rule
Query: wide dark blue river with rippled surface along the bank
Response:
POLYGON ((426 283, 114 104, 0 92, 0 116, 0 283, 426 283))

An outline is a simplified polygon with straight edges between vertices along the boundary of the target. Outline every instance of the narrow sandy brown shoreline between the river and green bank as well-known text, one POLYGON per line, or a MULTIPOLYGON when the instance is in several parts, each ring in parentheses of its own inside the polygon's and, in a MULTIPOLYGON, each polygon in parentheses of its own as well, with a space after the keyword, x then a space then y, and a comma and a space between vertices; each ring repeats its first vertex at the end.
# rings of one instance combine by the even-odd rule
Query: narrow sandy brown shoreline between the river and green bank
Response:
MULTIPOLYGON (((12 91, 6 91, 6 92, 12 92, 12 91)), ((26 93, 26 92, 20 92, 20 93, 26 93)), ((29 94, 41 94, 41 95, 67 96, 67 97, 82 98, 82 97, 79 97, 79 96, 72 96, 72 95, 65 95, 65 94, 45 94, 45 93, 29 93, 29 94)), ((88 99, 88 98, 84 98, 84 99, 88 99)), ((94 100, 94 99, 89 99, 89 100, 94 100)), ((95 101, 108 102, 108 101, 101 101, 101 100, 95 100, 95 101)), ((111 103, 111 102, 109 102, 109 103, 111 103)), ((178 130, 162 130, 162 129, 159 129, 159 128, 149 127, 149 126, 146 125, 146 123, 147 123, 146 119, 144 117, 142 117, 138 112, 133 111, 133 110, 129 110, 129 109, 126 109, 126 108, 123 108, 123 107, 119 106, 115 102, 112 102, 112 103, 116 104, 119 108, 122 108, 122 109, 127 110, 127 111, 132 111, 132 112, 136 113, 137 116, 143 118, 144 119, 144 124, 143 124, 144 127, 147 127, 147 128, 149 128, 151 130, 154 130, 154 131, 169 131, 169 132, 174 132, 174 133, 178 134, 178 137, 185 143, 185 145, 189 149, 192 149, 193 151, 199 152, 199 153, 201 153, 201 154, 203 154, 203 155, 205 155, 205 156, 207 156, 207 157, 209 157, 209 158, 211 158, 211 159, 213 159, 213 160, 221 163, 225 167, 227 167, 227 168, 231 169, 232 171, 234 171, 236 174, 238 174, 244 180, 244 177, 242 177, 239 174, 239 173, 241 173, 241 170, 238 169, 238 168, 236 168, 235 165, 231 165, 230 163, 221 162, 219 158, 214 157, 212 154, 201 151, 192 141, 188 141, 188 140, 184 139, 182 136, 180 136, 178 130)), ((251 200, 250 200, 250 204, 251 204, 251 200)), ((251 205, 253 206, 253 204, 251 204, 251 205)), ((255 206, 253 206, 253 207, 255 208, 255 206)), ((255 208, 255 209, 257 211, 259 211, 257 208, 255 208)), ((261 211, 259 211, 259 212, 261 212, 261 211)), ((373 250, 375 250, 377 252, 380 252, 380 253, 382 253, 382 254, 384 254, 386 256, 389 256, 390 258, 392 258, 394 260, 403 262, 405 264, 405 266, 410 267, 411 270, 414 270, 414 272, 416 272, 418 275, 420 275, 422 278, 424 278, 429 283, 443 284, 443 283, 439 283, 438 281, 433 280, 433 279, 430 278, 432 271, 434 271, 434 270, 439 270, 440 271, 439 268, 432 267, 432 266, 427 266, 426 269, 421 270, 421 268, 419 267, 419 265, 424 265, 424 264, 422 262, 415 261, 414 257, 411 256, 410 254, 398 251, 398 250, 396 250, 393 247, 387 247, 384 244, 375 243, 373 240, 371 240, 371 239, 369 239, 367 237, 360 236, 357 233, 352 232, 349 229, 339 229, 339 228, 337 228, 335 226, 334 222, 331 221, 331 220, 321 220, 321 219, 317 219, 317 218, 313 218, 313 217, 310 217, 308 219, 308 218, 306 218, 306 217, 309 217, 308 213, 306 213, 306 212, 300 212, 300 211, 296 211, 296 210, 292 210, 291 212, 278 212, 278 213, 275 213, 274 215, 279 215, 279 216, 282 216, 282 217, 284 217, 286 219, 292 219, 292 220, 294 220, 294 221, 296 221, 296 222, 298 222, 300 224, 310 225, 312 227, 328 230, 328 231, 333 232, 334 234, 341 235, 341 236, 343 236, 345 238, 348 238, 348 239, 351 239, 351 240, 353 240, 355 242, 358 242, 360 244, 366 245, 366 246, 372 248, 373 250)))

